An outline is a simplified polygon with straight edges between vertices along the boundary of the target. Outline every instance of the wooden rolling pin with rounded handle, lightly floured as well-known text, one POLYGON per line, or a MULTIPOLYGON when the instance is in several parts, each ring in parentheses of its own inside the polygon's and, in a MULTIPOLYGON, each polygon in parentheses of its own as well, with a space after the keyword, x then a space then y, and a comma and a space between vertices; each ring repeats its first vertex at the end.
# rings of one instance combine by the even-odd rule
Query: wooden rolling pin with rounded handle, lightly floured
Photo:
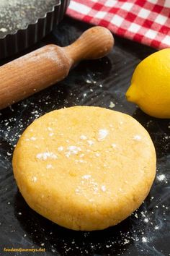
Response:
POLYGON ((82 59, 97 59, 109 53, 112 33, 91 27, 70 46, 53 44, 32 51, 0 67, 0 109, 63 80, 82 59))

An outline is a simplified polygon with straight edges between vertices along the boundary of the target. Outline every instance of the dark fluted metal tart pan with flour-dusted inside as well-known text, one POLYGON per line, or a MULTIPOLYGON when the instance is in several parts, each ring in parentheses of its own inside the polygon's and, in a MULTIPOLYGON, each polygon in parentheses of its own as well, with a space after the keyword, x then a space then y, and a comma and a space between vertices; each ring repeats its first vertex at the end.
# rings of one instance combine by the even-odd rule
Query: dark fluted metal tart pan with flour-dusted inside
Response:
POLYGON ((1 0, 0 59, 48 35, 63 19, 70 0, 1 0))

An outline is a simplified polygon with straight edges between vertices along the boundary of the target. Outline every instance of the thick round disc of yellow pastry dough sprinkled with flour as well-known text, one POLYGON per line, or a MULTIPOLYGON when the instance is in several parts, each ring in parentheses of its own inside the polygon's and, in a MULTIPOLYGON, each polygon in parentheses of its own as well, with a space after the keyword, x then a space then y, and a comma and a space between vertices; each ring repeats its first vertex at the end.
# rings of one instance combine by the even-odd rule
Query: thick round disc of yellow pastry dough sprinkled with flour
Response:
POLYGON ((91 231, 120 223, 141 205, 156 153, 133 117, 76 106, 33 121, 14 150, 13 168, 30 208, 68 229, 91 231))

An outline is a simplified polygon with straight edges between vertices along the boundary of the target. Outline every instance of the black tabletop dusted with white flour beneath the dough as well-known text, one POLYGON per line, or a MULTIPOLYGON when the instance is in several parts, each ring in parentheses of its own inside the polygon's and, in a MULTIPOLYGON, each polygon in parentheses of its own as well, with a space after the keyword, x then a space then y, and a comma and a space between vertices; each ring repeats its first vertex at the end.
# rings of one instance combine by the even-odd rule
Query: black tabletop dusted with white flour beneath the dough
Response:
MULTIPOLYGON (((66 46, 88 27, 65 18, 35 48, 45 43, 66 46)), ((169 255, 170 121, 151 118, 125 100, 135 66, 154 50, 122 38, 115 37, 115 42, 107 57, 82 62, 62 82, 0 112, 0 255, 9 255, 4 247, 45 248, 37 256, 169 255), (109 108, 111 101, 112 109, 135 117, 151 135, 158 158, 156 180, 143 205, 119 225, 94 232, 63 229, 31 210, 19 194, 12 174, 14 145, 24 129, 48 111, 75 105, 109 108)))

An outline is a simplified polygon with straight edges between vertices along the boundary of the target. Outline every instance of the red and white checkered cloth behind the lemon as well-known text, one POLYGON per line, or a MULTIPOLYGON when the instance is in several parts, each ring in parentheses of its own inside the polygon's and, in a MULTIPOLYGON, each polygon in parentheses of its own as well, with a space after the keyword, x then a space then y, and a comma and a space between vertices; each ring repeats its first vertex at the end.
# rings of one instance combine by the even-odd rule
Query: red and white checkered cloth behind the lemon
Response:
POLYGON ((67 14, 154 48, 170 47, 170 0, 71 0, 67 14))

